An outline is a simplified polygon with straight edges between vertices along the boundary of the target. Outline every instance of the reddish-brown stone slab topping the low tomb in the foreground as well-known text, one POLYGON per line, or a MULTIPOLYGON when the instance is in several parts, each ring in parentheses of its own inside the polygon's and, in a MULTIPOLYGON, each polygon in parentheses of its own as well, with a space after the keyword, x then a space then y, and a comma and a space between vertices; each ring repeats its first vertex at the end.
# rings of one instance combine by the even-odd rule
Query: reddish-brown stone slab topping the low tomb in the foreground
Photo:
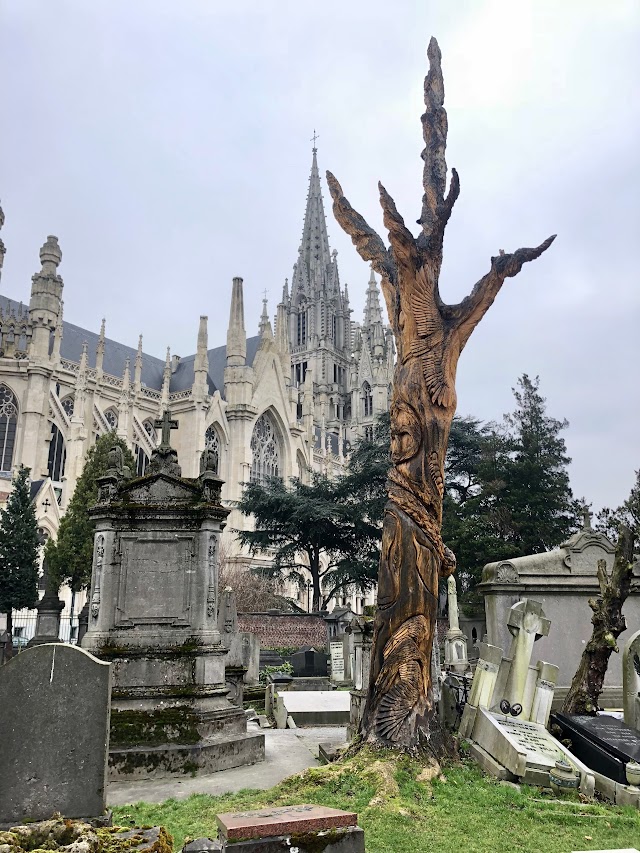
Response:
POLYGON ((327 806, 300 805, 216 815, 219 835, 226 841, 245 841, 274 835, 302 834, 355 826, 358 815, 327 806))

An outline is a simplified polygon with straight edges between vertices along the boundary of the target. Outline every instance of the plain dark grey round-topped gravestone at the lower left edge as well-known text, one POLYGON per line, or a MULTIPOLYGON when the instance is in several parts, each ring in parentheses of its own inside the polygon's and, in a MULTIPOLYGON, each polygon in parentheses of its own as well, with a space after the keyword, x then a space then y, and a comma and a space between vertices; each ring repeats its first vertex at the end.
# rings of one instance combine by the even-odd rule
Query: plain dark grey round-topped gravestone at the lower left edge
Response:
POLYGON ((105 811, 111 666, 66 644, 0 669, 0 825, 105 811))

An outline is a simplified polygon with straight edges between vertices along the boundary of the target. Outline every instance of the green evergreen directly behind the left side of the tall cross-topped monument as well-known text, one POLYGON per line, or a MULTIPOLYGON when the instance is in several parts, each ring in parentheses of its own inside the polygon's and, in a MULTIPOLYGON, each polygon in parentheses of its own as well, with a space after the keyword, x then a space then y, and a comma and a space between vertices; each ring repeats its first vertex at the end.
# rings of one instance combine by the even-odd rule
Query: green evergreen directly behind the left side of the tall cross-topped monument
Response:
POLYGON ((124 452, 124 464, 135 471, 133 454, 123 439, 114 432, 101 435, 87 453, 82 474, 60 522, 57 540, 47 542, 45 553, 51 577, 58 584, 68 583, 75 592, 91 583, 94 525, 88 510, 98 501, 96 480, 106 473, 109 451, 115 445, 124 452))

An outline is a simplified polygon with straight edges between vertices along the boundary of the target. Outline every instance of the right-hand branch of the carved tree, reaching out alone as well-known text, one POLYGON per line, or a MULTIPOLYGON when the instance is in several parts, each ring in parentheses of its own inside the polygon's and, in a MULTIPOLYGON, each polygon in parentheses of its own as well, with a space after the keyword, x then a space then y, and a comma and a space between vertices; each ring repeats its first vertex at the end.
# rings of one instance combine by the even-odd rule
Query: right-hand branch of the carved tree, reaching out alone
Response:
POLYGON ((555 239, 556 235, 553 234, 533 249, 517 249, 510 255, 500 254, 491 258, 491 269, 474 285, 469 296, 457 305, 442 307, 443 315, 447 319, 454 320, 458 327, 460 350, 493 304, 505 278, 516 276, 525 263, 539 258, 555 239))

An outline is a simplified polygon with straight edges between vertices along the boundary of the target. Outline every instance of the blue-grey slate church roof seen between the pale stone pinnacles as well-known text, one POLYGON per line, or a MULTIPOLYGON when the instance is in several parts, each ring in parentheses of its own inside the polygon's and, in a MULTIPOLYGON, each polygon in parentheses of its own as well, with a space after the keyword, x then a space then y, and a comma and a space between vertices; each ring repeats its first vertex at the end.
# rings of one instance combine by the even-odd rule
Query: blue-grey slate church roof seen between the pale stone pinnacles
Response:
MULTIPOLYGON (((7 296, 0 295, 0 308, 7 314, 13 311, 18 315, 20 308, 23 312, 28 311, 28 306, 23 303, 16 302, 14 299, 9 299, 7 296)), ((88 360, 89 367, 96 366, 96 348, 98 346, 99 335, 97 332, 92 332, 89 329, 83 329, 73 323, 62 321, 62 343, 60 345, 60 355, 67 361, 78 363, 82 355, 82 344, 84 341, 88 343, 88 360)), ((260 344, 260 336, 247 338, 247 364, 253 364, 258 346, 260 344)), ((111 376, 122 376, 124 372, 124 364, 127 358, 131 363, 131 371, 135 363, 137 349, 128 347, 118 343, 111 338, 105 338, 104 342, 104 360, 102 368, 105 373, 111 376)), ((208 351, 209 355, 209 375, 207 377, 207 385, 210 394, 218 389, 223 393, 224 389, 224 368, 227 362, 227 347, 215 347, 208 351)), ((178 367, 171 376, 171 384, 169 391, 186 391, 193 385, 195 354, 188 355, 180 359, 178 367)), ((160 391, 162 388, 162 377, 164 372, 164 359, 156 358, 153 355, 142 353, 142 384, 148 388, 155 388, 160 391)))

